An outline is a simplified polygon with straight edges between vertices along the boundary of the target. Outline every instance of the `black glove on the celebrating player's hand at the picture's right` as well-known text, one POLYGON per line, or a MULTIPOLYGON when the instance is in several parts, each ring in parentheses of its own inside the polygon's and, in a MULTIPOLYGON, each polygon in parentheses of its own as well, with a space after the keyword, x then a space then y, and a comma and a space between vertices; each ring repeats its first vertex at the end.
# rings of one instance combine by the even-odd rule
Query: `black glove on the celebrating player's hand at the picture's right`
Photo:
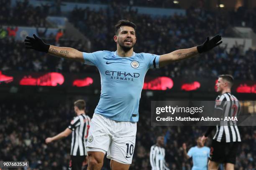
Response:
POLYGON ((207 37, 207 39, 205 40, 205 42, 202 45, 197 46, 197 51, 199 53, 207 52, 222 43, 222 41, 220 41, 221 35, 215 35, 211 40, 209 40, 209 39, 210 38, 207 37))

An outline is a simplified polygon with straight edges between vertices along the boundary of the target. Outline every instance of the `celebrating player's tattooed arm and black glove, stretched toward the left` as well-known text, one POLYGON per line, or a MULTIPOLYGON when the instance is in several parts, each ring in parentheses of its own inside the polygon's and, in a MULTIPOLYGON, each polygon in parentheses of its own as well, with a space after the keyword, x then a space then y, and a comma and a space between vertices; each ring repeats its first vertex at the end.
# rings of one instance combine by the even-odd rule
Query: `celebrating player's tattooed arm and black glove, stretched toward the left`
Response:
POLYGON ((54 55, 57 57, 84 62, 82 52, 74 48, 56 47, 54 45, 46 44, 43 40, 41 40, 34 34, 33 37, 26 37, 26 40, 24 42, 27 49, 34 49, 37 51, 46 52, 50 55, 54 55))

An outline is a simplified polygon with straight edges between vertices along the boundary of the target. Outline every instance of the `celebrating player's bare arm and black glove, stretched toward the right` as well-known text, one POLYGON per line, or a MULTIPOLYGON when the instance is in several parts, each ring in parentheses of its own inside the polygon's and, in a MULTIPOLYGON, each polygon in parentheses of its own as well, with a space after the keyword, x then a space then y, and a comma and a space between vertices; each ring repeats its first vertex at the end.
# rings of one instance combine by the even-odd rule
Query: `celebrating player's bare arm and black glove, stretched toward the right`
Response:
POLYGON ((215 35, 215 37, 213 37, 211 40, 209 37, 207 37, 205 42, 202 45, 198 45, 197 47, 176 50, 169 54, 160 55, 159 67, 163 67, 172 62, 177 62, 180 60, 185 60, 190 57, 194 57, 197 54, 200 54, 202 52, 207 52, 212 48, 220 45, 222 43, 222 41, 220 40, 221 40, 221 35, 215 35))

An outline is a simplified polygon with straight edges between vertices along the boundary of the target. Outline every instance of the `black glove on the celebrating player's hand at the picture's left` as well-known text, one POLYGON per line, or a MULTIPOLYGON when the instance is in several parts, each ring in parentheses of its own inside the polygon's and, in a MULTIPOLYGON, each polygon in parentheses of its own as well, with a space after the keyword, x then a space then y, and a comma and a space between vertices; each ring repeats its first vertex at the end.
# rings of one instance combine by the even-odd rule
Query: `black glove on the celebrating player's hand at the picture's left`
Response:
POLYGON ((34 49, 41 52, 48 52, 50 45, 44 43, 43 40, 38 38, 36 35, 34 35, 34 38, 32 37, 26 37, 26 40, 24 40, 26 48, 27 49, 34 49))

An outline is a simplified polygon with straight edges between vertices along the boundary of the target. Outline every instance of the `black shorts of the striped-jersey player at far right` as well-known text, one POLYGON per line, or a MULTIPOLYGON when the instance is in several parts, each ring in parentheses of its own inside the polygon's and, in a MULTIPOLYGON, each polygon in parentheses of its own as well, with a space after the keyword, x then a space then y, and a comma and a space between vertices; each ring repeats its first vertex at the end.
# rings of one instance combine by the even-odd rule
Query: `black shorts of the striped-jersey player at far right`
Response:
POLYGON ((217 163, 236 164, 236 153, 240 142, 218 142, 212 140, 210 160, 217 163))

